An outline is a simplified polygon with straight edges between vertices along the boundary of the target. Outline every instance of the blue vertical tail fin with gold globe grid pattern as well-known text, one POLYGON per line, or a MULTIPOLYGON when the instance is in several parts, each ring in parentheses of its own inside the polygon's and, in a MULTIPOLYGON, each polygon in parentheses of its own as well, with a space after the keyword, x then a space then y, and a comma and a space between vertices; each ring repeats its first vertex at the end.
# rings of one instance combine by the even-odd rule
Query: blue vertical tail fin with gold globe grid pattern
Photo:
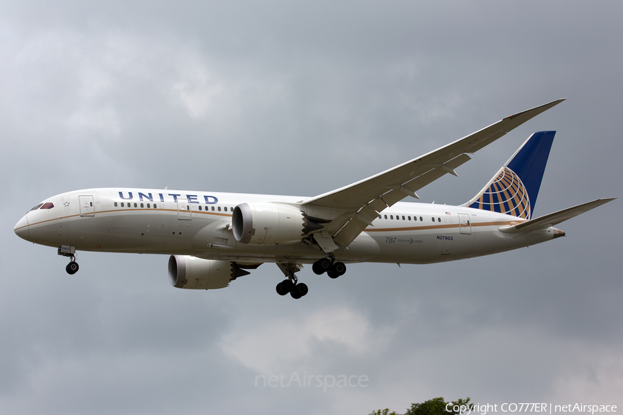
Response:
POLYGON ((464 206, 531 219, 556 131, 539 131, 464 206))

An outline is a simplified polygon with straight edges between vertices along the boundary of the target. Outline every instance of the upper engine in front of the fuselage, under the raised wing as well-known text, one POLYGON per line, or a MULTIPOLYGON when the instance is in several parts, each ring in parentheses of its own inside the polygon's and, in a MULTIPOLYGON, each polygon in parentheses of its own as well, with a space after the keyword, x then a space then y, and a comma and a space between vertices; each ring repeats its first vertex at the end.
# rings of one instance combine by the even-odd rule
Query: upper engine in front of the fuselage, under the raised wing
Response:
POLYGON ((234 208, 231 227, 236 241, 251 245, 296 243, 322 226, 298 208, 281 203, 241 203, 234 208))

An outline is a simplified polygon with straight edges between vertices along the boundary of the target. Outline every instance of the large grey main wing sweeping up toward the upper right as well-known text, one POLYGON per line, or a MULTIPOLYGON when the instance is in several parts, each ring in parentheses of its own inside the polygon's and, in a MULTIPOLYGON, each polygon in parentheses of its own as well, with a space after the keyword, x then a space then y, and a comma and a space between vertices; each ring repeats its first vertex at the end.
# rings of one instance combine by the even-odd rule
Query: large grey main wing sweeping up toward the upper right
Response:
POLYGON ((325 230, 331 234, 336 243, 348 246, 377 218, 378 212, 394 205, 406 196, 419 199, 415 192, 428 183, 444 174, 450 173, 456 176, 454 169, 470 159, 467 154, 473 154, 491 144, 507 132, 563 100, 564 98, 516 113, 385 172, 332 192, 320 194, 301 203, 318 208, 336 208, 350 212, 350 214, 338 216, 325 225, 325 230))

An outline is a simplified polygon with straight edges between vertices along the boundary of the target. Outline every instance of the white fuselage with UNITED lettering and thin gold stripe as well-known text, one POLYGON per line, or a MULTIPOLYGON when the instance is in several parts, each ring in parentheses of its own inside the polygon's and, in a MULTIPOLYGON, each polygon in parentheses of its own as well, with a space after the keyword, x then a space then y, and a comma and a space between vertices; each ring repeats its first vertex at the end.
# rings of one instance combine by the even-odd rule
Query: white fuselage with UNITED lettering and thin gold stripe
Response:
MULTIPOLYGON (((297 196, 102 188, 53 196, 53 208, 28 212, 15 232, 46 246, 76 250, 192 255, 237 262, 311 264, 325 253, 303 242, 249 245, 231 230, 240 203, 297 203, 297 196)), ((347 248, 333 253, 346 263, 428 264, 478 257, 561 236, 555 228, 506 233, 525 219, 459 206, 396 203, 383 210, 347 248)))

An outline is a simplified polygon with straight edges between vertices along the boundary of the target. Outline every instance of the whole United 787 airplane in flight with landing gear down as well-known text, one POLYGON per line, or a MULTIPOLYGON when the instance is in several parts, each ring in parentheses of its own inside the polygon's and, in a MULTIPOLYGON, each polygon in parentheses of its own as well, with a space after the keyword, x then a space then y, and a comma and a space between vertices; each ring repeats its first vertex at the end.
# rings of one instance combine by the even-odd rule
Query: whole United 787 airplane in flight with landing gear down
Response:
POLYGON ((615 198, 532 218, 555 131, 528 138, 476 196, 459 206, 401 202, 453 174, 482 147, 564 100, 503 118, 362 181, 314 197, 138 188, 77 190, 45 199, 15 225, 22 239, 75 253, 170 255, 172 286, 225 288, 265 262, 285 279, 279 295, 308 292, 296 273, 331 278, 345 264, 432 264, 490 255, 565 236, 554 225, 615 198))

